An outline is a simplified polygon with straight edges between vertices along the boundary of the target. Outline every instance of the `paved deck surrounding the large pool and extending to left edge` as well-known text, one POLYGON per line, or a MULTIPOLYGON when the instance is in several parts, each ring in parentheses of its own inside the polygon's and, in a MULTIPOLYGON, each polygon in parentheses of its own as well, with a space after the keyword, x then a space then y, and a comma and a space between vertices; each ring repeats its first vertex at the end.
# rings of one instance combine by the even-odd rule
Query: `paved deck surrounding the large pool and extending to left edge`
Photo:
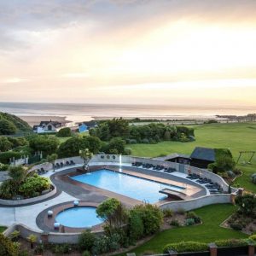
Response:
MULTIPOLYGON (((41 201, 36 204, 22 206, 22 207, 3 207, 0 206, 0 225, 9 226, 11 224, 25 224, 32 230, 43 231, 38 227, 37 218, 40 212, 45 212, 49 207, 54 207, 55 205, 60 205, 67 203, 68 201, 85 201, 85 202, 95 202, 100 203, 108 197, 115 197, 122 201, 126 206, 133 206, 142 201, 137 201, 131 199, 125 195, 119 195, 105 189, 99 189, 90 185, 83 184, 83 186, 77 186, 77 183, 68 177, 68 175, 73 172, 72 175, 81 174, 81 172, 76 173, 76 169, 81 165, 76 166, 66 166, 55 170, 55 172, 47 172, 43 177, 49 177, 51 182, 55 184, 59 193, 53 198, 46 201, 41 201), (73 181, 73 182, 71 182, 73 181)), ((96 168, 104 166, 106 168, 113 168, 114 171, 119 171, 119 166, 106 166, 97 165, 96 168)), ((201 195, 207 195, 207 189, 204 189, 201 185, 186 179, 187 185, 184 186, 183 178, 186 177, 185 174, 179 172, 173 172, 172 174, 165 172, 150 171, 143 168, 131 167, 131 164, 122 166, 123 172, 148 179, 153 179, 161 183, 170 183, 177 186, 186 187, 186 192, 188 192, 189 198, 198 197, 201 195), (170 179, 168 181, 168 179, 170 179)), ((81 183, 80 183, 81 184, 81 183)), ((161 201, 164 203, 169 200, 161 201)), ((156 205, 159 205, 157 203, 156 205)))

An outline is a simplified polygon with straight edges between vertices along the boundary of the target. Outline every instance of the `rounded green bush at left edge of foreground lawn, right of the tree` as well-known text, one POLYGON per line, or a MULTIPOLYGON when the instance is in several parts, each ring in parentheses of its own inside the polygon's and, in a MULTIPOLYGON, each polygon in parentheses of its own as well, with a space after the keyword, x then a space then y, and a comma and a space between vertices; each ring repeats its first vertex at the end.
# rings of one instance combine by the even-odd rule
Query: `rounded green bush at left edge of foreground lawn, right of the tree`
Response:
POLYGON ((160 208, 150 205, 138 205, 133 207, 132 211, 137 212, 143 219, 144 235, 151 235, 160 230, 160 224, 163 221, 163 213, 160 208))

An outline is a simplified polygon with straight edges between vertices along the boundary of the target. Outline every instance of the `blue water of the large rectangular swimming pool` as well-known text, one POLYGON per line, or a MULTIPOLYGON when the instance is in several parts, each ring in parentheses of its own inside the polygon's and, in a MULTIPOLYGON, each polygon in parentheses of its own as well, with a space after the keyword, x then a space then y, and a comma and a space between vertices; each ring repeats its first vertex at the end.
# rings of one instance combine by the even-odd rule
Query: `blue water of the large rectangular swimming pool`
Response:
POLYGON ((185 189, 183 187, 158 183, 127 175, 122 172, 109 170, 99 170, 88 174, 81 174, 72 177, 72 179, 149 203, 154 203, 166 198, 165 195, 159 193, 160 189, 170 188, 178 191, 185 189))

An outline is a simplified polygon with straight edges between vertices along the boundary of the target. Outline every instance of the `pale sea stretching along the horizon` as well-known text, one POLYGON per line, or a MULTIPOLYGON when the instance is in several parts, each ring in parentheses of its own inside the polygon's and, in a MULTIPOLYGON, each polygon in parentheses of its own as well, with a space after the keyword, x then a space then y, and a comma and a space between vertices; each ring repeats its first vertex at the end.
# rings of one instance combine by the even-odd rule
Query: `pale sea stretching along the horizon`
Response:
POLYGON ((209 119, 217 114, 245 115, 256 107, 150 106, 78 103, 0 102, 0 111, 18 116, 61 116, 73 122, 113 117, 142 119, 209 119))

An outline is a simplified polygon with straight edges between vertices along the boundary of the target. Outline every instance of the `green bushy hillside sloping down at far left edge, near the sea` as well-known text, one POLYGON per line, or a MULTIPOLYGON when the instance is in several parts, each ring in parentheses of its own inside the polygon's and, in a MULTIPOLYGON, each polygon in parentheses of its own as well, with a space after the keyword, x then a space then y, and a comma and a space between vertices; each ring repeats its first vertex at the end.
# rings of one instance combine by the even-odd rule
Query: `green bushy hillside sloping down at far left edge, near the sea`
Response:
POLYGON ((2 126, 0 127, 0 134, 9 134, 9 133, 5 132, 7 125, 10 126, 11 128, 13 128, 10 130, 13 130, 15 132, 32 131, 32 128, 25 121, 18 118, 14 114, 0 112, 0 121, 2 123, 2 126), (4 122, 4 121, 7 121, 7 122, 4 122), (1 131, 1 129, 2 129, 2 131, 1 131), (4 129, 4 131, 3 131, 3 129, 4 129))

